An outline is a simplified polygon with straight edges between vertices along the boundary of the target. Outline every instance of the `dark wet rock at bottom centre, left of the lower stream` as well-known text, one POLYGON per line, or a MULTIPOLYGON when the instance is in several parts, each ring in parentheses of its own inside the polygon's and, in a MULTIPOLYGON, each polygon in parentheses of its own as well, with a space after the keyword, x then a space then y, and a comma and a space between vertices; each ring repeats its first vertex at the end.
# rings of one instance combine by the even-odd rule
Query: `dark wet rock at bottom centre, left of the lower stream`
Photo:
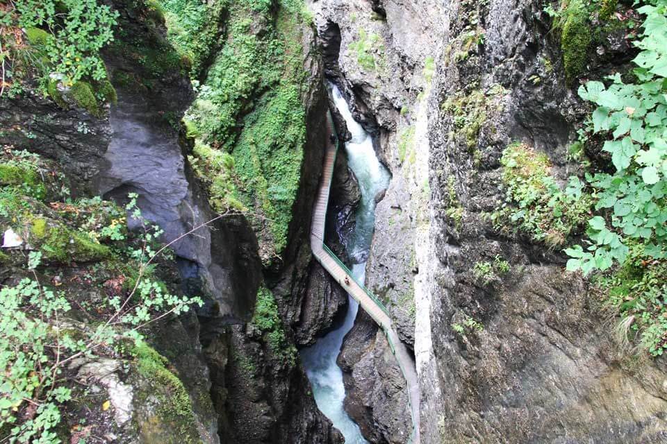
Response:
POLYGON ((204 344, 216 363, 213 400, 225 406, 223 443, 343 443, 315 406, 297 355, 272 349, 250 324, 224 327, 204 344))

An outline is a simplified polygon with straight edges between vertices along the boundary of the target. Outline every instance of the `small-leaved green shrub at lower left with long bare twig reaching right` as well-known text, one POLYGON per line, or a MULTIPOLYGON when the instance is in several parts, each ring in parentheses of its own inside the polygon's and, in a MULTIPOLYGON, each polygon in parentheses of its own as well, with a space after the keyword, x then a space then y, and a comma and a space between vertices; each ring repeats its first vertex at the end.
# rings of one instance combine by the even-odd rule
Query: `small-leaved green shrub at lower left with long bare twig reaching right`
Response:
MULTIPOLYGON (((69 295, 42 287, 35 271, 42 259, 40 251, 28 257, 28 272, 33 278, 0 289, 2 442, 59 443, 55 432, 60 422, 59 404, 72 396, 64 375, 66 364, 79 357, 113 354, 126 340, 140 343, 140 331, 151 323, 201 305, 201 299, 171 295, 163 284, 151 280, 151 264, 183 237, 233 214, 218 214, 158 248, 155 242, 161 231, 142 219, 137 197, 130 195, 126 210, 144 227, 140 246, 129 252, 138 261, 138 276, 124 298, 115 296, 101 307, 103 318, 97 328, 73 328, 72 321, 65 318, 72 309, 69 295)), ((119 230, 112 230, 112 234, 116 240, 125 240, 119 230)))

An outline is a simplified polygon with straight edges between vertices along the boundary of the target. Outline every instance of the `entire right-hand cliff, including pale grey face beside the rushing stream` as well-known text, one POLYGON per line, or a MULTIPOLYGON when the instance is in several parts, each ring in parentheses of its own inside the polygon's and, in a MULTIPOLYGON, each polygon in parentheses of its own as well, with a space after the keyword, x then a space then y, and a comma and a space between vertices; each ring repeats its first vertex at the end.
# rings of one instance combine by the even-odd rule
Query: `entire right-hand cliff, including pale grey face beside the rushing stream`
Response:
MULTIPOLYGON (((621 352, 600 302, 564 272, 561 253, 501 235, 485 216, 502 204, 499 161, 511 142, 547 153, 561 177, 575 168, 566 146, 584 108, 577 85, 566 85, 541 3, 311 8, 327 74, 354 96, 393 174, 377 207, 367 283, 415 350, 422 442, 664 440, 664 359, 621 352), (509 273, 480 282, 473 265, 495 257, 509 273), (452 325, 468 318, 483 330, 456 333, 452 325)), ((629 55, 617 38, 595 53, 597 76, 629 55)), ((361 377, 361 368, 379 369, 363 363, 377 363, 384 345, 360 329, 341 355, 347 406, 370 441, 394 442, 384 425, 397 398, 361 377)))

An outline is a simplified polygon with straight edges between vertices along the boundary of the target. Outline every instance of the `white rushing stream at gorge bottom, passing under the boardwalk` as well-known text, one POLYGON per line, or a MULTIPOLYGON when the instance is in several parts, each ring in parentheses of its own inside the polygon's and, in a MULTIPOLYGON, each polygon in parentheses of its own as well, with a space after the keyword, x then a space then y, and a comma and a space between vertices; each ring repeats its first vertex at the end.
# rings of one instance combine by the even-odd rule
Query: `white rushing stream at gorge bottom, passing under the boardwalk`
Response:
MULTIPOLYGON (((375 225, 375 196, 389 184, 389 172, 380 164, 373 149, 372 138, 362 126, 354 120, 347 102, 338 88, 331 86, 334 103, 345 118, 347 129, 352 139, 345 143, 345 151, 350 169, 354 172, 361 190, 361 201, 356 210, 356 225, 349 239, 344 239, 352 258, 350 266, 354 278, 364 281, 365 264, 373 237, 375 225)), ((346 444, 368 443, 359 426, 353 422, 343 408, 345 386, 343 372, 336 364, 336 357, 343 345, 343 337, 354 325, 354 318, 359 304, 349 296, 349 309, 343 325, 319 339, 315 345, 304 348, 301 352, 306 374, 313 386, 313 395, 319 409, 326 415, 334 427, 345 436, 346 444)))

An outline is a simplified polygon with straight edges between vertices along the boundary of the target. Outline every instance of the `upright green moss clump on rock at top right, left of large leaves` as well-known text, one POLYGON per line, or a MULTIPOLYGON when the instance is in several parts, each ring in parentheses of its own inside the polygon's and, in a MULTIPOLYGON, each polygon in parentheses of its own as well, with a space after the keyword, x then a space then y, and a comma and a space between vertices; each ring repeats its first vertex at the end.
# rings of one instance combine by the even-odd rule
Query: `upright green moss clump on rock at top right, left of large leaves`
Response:
POLYGON ((571 0, 563 10, 561 49, 568 82, 572 82, 586 69, 593 42, 589 15, 583 0, 571 0))

